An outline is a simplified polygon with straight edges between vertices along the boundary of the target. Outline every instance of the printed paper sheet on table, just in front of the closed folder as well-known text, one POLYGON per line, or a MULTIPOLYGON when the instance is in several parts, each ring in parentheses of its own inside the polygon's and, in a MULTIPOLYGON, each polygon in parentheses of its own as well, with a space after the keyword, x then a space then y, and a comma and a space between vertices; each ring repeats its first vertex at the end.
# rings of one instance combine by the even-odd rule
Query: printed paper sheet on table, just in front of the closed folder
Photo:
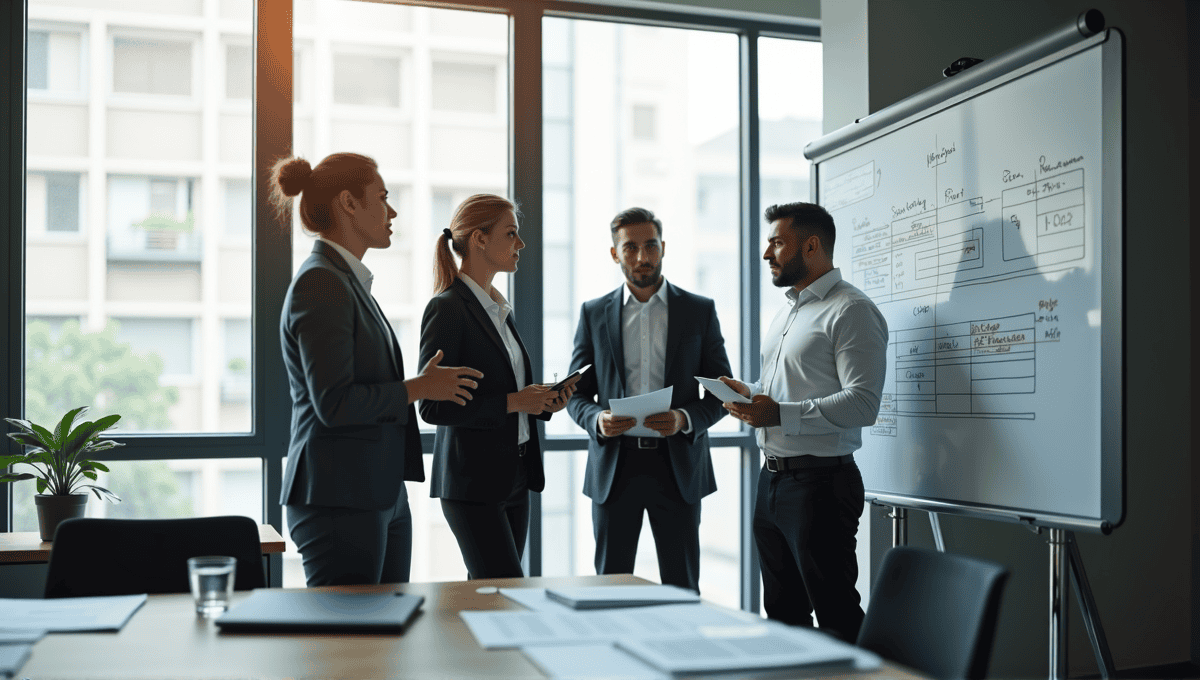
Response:
POLYGON ((696 632, 702 626, 746 626, 760 620, 742 612, 707 603, 662 604, 635 609, 588 612, 458 613, 484 649, 536 644, 608 643, 622 637, 652 637, 696 632))

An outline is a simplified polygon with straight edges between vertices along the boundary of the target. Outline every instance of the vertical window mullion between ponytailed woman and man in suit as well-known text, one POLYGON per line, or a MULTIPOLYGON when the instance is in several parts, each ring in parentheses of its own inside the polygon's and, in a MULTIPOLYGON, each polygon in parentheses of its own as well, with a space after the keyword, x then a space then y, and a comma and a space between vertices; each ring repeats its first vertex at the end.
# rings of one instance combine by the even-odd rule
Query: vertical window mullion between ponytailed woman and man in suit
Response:
MULTIPOLYGON (((529 353, 533 375, 542 372, 542 158, 541 158, 541 14, 540 2, 511 6, 509 24, 509 187, 521 207, 521 269, 512 276, 515 323, 529 353)), ((534 420, 534 427, 544 427, 534 420)), ((524 567, 541 576, 541 494, 529 494, 529 536, 524 567)))

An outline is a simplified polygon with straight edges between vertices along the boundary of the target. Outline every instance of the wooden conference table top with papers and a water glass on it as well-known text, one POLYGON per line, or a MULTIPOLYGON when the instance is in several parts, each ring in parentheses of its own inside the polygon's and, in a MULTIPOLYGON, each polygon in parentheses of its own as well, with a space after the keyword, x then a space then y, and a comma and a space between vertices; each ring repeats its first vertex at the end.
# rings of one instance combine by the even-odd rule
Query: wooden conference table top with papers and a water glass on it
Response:
MULTIPOLYGON (((329 588, 424 595, 421 612, 403 634, 222 633, 211 621, 196 616, 190 595, 151 595, 120 632, 46 636, 34 646, 17 678, 544 679, 538 667, 517 650, 480 648, 458 612, 521 609, 503 595, 488 592, 486 586, 622 583, 647 582, 634 576, 589 576, 329 588), (485 591, 479 592, 480 588, 485 591)), ((234 602, 246 596, 248 592, 235 592, 234 602)), ((820 676, 925 678, 892 663, 872 673, 820 676)))

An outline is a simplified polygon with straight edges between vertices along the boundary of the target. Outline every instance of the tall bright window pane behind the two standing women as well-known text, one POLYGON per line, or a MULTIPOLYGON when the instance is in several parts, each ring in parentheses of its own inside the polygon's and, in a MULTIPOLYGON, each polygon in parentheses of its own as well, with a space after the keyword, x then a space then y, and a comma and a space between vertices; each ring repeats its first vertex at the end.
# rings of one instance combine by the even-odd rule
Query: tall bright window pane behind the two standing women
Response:
MULTIPOLYGON (((415 375, 421 314, 433 289, 434 240, 468 195, 508 194, 508 17, 312 0, 296 2, 295 22, 294 151, 313 164, 336 151, 379 163, 398 215, 391 246, 368 251, 362 261, 374 276, 372 295, 400 341, 404 372, 415 375), (452 52, 440 47, 448 44, 452 52)), ((314 236, 300 228, 298 215, 293 224, 295 271, 314 236)), ((508 295, 506 277, 493 283, 508 295)), ((426 457, 426 467, 430 462, 426 457)), ((413 580, 466 578, 458 544, 440 504, 428 498, 428 485, 408 483, 408 497, 413 580)), ((289 550, 283 583, 302 585, 299 555, 289 550)))

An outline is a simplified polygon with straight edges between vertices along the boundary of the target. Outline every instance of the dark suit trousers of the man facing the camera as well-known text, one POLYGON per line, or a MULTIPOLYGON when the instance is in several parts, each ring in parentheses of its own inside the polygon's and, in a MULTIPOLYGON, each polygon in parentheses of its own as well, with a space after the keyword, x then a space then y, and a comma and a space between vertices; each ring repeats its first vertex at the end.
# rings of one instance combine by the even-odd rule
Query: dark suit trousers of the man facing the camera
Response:
POLYGON ((679 495, 665 447, 623 449, 608 499, 592 504, 596 573, 634 573, 643 514, 650 517, 659 578, 700 592, 700 503, 679 495))

